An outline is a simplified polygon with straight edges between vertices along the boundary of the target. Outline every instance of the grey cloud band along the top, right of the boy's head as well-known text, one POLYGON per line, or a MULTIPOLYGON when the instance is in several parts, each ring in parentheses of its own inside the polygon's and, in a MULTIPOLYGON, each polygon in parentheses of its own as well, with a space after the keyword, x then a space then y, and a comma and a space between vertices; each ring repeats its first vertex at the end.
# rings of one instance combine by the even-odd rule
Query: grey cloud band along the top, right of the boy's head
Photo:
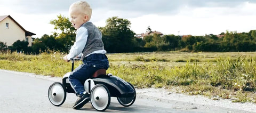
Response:
POLYGON ((246 1, 241 0, 100 0, 88 1, 94 10, 137 12, 140 14, 163 14, 178 13, 183 7, 236 7, 246 1))

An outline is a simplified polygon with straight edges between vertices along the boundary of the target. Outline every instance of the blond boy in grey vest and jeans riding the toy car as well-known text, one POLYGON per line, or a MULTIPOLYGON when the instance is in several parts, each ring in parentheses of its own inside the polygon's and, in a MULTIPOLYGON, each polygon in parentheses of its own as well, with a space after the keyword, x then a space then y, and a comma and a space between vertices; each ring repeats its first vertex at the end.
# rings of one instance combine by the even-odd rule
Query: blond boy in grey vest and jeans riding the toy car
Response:
POLYGON ((75 2, 69 7, 69 14, 72 25, 77 29, 76 42, 63 59, 68 62, 70 58, 82 53, 83 64, 69 76, 70 85, 77 95, 73 108, 79 109, 90 101, 89 94, 84 90, 85 80, 91 78, 98 69, 108 69, 109 63, 105 55, 101 32, 89 21, 92 14, 90 5, 84 1, 75 2))

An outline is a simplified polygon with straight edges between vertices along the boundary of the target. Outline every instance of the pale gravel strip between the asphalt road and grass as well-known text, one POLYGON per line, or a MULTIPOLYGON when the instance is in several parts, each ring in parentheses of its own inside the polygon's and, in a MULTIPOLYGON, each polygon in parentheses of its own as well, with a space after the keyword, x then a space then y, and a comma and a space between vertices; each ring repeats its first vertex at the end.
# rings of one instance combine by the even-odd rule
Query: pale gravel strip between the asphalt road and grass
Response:
MULTIPOLYGON (((62 79, 61 77, 35 75, 27 72, 17 72, 17 71, 9 71, 9 70, 1 70, 1 69, 0 71, 12 72, 18 75, 52 80, 53 82, 61 82, 61 79, 62 79)), ((212 100, 202 95, 185 95, 181 93, 171 92, 164 88, 142 88, 142 89, 136 89, 136 92, 137 92, 138 98, 146 98, 146 99, 150 98, 150 99, 155 99, 161 102, 169 103, 172 101, 180 101, 180 102, 188 102, 191 104, 199 104, 202 106, 223 107, 223 108, 237 109, 237 110, 243 110, 248 112, 256 112, 255 103, 232 102, 229 99, 212 100)), ((177 109, 183 109, 183 108, 180 107, 177 109)), ((196 109, 196 107, 191 109, 196 109)))

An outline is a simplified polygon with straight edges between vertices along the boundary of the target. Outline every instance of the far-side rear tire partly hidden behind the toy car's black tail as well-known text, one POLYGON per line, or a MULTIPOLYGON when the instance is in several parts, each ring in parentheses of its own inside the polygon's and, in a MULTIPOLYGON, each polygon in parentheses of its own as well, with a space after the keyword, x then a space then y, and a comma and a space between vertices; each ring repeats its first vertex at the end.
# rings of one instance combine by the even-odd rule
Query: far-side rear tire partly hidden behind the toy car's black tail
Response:
POLYGON ((132 88, 134 89, 134 92, 135 92, 135 94, 134 94, 134 96, 133 97, 130 97, 130 98, 119 98, 119 97, 117 97, 117 101, 122 105, 122 106, 124 106, 124 107, 129 107, 129 106, 131 106, 134 102, 135 102, 135 100, 136 100, 136 91, 135 91, 135 88, 133 87, 133 85, 131 84, 131 83, 129 83, 131 86, 132 86, 132 88))

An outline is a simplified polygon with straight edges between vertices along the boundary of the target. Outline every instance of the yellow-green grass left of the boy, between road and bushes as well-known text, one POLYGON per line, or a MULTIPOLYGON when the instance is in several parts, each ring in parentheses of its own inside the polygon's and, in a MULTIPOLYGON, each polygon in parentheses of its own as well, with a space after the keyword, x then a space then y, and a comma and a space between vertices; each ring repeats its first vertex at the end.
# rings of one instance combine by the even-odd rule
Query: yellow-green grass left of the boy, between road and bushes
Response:
POLYGON ((61 77, 71 70, 71 63, 62 61, 62 57, 61 53, 42 53, 39 55, 1 53, 0 69, 61 77))

